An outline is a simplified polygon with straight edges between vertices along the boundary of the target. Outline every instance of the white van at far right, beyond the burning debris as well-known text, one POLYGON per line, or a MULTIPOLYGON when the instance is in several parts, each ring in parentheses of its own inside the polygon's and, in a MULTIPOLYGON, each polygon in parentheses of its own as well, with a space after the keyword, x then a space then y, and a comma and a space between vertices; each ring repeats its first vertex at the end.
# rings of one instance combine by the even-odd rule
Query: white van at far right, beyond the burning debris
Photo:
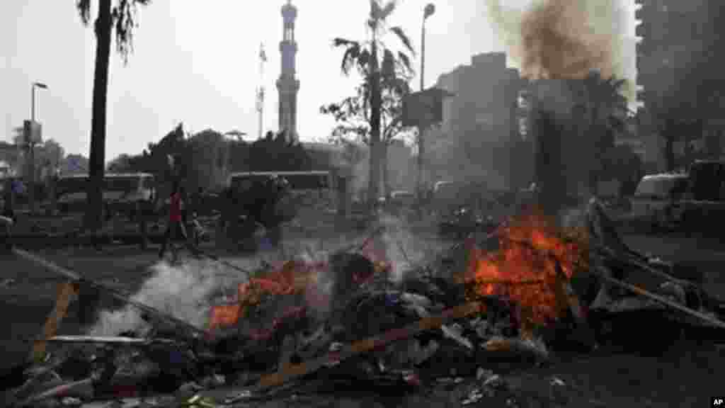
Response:
POLYGON ((650 222, 653 227, 671 224, 672 205, 687 191, 687 174, 652 174, 644 176, 632 197, 631 216, 650 222))

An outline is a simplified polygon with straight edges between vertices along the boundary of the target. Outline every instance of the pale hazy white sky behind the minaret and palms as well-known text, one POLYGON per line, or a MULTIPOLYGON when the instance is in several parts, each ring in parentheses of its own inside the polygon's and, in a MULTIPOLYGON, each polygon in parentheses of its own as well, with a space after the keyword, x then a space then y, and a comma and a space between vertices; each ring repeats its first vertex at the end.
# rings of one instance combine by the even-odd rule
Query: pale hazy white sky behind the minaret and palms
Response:
MULTIPOLYGON (((107 160, 141 152, 179 121, 190 131, 239 129, 256 136, 260 42, 268 55, 264 127, 276 130, 275 80, 284 2, 154 0, 140 9, 135 52, 128 65, 123 66, 115 49, 111 55, 107 160)), ((506 0, 505 4, 528 2, 506 0)), ((318 113, 320 105, 349 95, 359 81, 341 76, 341 50, 332 48, 332 38, 363 38, 369 5, 366 0, 293 3, 299 9, 298 132, 303 140, 323 139, 333 121, 318 113)), ((416 50, 425 4, 426 0, 403 0, 390 20, 407 31, 416 50)), ((36 118, 43 123, 43 136, 56 139, 67 152, 88 155, 95 41, 92 25, 81 25, 74 6, 75 0, 0 1, 3 139, 8 140, 10 129, 29 118, 30 83, 41 81, 49 86, 36 94, 36 118)), ((426 23, 426 86, 441 73, 470 63, 472 54, 504 51, 484 0, 439 1, 436 6, 436 14, 426 23)), ((634 36, 633 8, 629 14, 634 36)), ((419 64, 416 60, 416 68, 419 64)), ((419 81, 415 79, 416 88, 419 81)))

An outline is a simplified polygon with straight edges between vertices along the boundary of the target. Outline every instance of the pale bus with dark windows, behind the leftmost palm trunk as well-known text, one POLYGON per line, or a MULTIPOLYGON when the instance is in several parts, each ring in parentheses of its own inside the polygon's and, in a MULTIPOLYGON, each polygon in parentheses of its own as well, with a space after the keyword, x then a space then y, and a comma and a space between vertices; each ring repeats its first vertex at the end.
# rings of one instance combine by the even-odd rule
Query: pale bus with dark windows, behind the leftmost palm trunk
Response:
MULTIPOLYGON (((62 176, 56 187, 58 209, 61 213, 86 211, 86 189, 90 176, 74 174, 62 176)), ((105 174, 103 200, 108 211, 126 213, 130 218, 141 203, 150 203, 156 197, 156 179, 153 174, 105 174)))

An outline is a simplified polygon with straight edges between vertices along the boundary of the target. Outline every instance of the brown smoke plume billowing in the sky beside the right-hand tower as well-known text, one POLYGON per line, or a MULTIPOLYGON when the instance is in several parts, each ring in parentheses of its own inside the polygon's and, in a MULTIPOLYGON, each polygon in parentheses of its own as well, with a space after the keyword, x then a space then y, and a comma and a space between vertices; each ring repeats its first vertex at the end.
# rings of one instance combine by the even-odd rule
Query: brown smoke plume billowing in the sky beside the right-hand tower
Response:
MULTIPOLYGON (((522 76, 571 79, 599 70, 605 78, 626 78, 622 0, 542 0, 523 11, 503 3, 487 0, 489 16, 522 76)), ((629 100, 634 88, 628 81, 629 100)))

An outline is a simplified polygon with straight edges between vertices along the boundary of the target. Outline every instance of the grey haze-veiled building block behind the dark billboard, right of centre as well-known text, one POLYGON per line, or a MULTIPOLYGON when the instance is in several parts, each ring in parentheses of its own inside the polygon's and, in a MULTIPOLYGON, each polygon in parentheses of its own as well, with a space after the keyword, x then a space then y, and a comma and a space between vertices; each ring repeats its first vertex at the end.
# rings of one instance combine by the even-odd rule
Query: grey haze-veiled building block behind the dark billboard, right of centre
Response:
POLYGON ((523 85, 518 70, 508 68, 506 54, 471 57, 438 78, 436 87, 449 91, 443 122, 428 133, 431 182, 481 182, 508 189, 512 181, 512 142, 518 138, 516 101, 523 85))

